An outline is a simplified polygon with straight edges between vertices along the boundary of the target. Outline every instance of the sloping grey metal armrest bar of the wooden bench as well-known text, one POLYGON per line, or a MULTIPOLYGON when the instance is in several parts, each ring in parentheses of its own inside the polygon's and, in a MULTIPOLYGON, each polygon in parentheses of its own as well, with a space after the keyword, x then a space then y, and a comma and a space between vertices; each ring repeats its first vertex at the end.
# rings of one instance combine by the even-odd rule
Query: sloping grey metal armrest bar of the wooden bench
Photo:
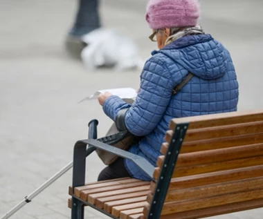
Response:
POLYGON ((130 153, 129 151, 118 149, 115 146, 111 146, 109 144, 99 142, 98 140, 89 139, 89 140, 80 140, 79 142, 82 142, 84 144, 89 144, 89 146, 94 146, 96 147, 96 149, 107 151, 109 153, 114 153, 115 155, 118 155, 121 158, 129 159, 133 161, 142 171, 144 171, 149 176, 149 178, 153 179, 155 166, 150 164, 147 160, 145 160, 145 158, 130 153))

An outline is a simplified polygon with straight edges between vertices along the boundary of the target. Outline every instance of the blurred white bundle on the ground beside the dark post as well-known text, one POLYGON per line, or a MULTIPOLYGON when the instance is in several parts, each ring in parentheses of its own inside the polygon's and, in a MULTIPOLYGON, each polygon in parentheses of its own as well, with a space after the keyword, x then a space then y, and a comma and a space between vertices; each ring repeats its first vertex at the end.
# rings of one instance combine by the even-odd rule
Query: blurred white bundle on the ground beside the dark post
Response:
POLYGON ((84 35, 82 41, 87 47, 82 50, 81 58, 89 70, 100 66, 114 66, 116 70, 143 68, 144 62, 134 42, 116 30, 98 28, 84 35))

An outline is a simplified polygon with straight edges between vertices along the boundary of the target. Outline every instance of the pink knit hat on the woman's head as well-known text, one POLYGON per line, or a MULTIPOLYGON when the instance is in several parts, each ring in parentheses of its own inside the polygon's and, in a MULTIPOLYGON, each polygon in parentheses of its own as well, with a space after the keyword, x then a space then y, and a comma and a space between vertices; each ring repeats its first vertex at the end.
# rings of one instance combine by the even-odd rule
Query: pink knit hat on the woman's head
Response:
POLYGON ((198 0, 149 0, 146 21, 152 29, 196 26, 198 0))

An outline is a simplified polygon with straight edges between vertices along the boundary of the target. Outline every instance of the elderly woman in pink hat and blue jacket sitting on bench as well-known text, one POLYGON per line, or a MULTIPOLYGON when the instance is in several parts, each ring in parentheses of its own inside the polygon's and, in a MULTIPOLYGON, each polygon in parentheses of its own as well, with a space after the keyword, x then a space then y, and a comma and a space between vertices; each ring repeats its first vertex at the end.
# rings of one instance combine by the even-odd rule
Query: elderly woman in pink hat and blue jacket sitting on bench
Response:
MULTIPOLYGON (((112 119, 127 109, 124 124, 143 138, 129 149, 156 165, 169 122, 174 117, 237 111, 238 83, 228 50, 200 26, 197 0, 150 0, 146 21, 158 44, 140 76, 134 104, 105 93, 98 100, 112 119), (174 94, 174 87, 188 83, 174 94)), ((131 176, 150 180, 131 161, 120 158, 98 180, 131 176)))

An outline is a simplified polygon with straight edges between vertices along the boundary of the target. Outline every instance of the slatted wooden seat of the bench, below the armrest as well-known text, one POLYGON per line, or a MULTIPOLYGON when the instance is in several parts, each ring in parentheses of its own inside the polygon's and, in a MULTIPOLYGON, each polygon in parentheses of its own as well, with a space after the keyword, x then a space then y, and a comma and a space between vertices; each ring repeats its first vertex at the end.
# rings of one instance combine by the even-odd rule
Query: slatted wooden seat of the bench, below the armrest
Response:
MULTIPOLYGON (((140 218, 143 216, 143 207, 147 204, 149 185, 150 182, 133 178, 119 178, 75 187, 74 195, 86 205, 92 204, 116 218, 140 218)), ((72 187, 69 187, 70 195, 71 191, 72 187)))

